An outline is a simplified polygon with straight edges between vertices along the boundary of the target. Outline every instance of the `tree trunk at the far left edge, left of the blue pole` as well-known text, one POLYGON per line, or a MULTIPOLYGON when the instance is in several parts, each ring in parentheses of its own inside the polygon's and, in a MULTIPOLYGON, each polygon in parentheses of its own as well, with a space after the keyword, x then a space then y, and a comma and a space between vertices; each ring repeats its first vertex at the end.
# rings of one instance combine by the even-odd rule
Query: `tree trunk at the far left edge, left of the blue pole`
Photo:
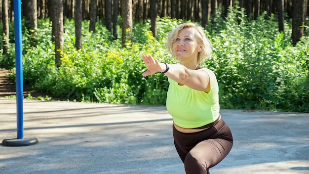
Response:
POLYGON ((3 50, 2 54, 7 54, 9 47, 9 25, 8 25, 8 0, 2 0, 2 36, 3 50))

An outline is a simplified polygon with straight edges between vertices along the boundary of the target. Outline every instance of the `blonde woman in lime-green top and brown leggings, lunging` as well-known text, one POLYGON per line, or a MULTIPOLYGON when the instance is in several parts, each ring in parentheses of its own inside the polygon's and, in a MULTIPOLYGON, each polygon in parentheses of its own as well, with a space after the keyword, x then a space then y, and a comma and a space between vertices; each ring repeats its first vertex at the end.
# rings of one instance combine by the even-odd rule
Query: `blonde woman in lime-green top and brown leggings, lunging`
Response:
POLYGON ((178 26, 169 36, 167 49, 179 64, 158 62, 143 55, 148 70, 168 77, 166 108, 173 117, 174 144, 186 174, 209 174, 232 149, 229 127, 220 116, 219 87, 215 74, 199 63, 212 51, 203 29, 194 23, 178 26))

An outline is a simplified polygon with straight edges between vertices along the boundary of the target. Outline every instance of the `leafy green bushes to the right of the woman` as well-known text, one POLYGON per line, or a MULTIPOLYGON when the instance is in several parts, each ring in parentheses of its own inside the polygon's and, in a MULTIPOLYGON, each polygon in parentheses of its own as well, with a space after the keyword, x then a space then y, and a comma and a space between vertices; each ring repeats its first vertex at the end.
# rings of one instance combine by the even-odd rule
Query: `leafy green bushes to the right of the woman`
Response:
POLYGON ((206 64, 217 74, 225 108, 309 112, 308 38, 293 47, 288 27, 279 33, 273 16, 248 20, 243 9, 230 9, 215 29, 206 64))

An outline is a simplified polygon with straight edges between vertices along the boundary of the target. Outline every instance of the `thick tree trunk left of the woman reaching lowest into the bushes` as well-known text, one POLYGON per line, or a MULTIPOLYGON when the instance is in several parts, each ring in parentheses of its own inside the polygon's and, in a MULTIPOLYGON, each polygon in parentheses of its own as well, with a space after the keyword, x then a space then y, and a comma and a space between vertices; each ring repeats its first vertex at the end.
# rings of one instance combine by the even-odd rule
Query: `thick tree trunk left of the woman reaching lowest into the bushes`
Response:
POLYGON ((53 29, 55 37, 55 63, 57 68, 61 66, 61 57, 64 47, 64 38, 63 38, 63 1, 62 0, 53 0, 53 29))

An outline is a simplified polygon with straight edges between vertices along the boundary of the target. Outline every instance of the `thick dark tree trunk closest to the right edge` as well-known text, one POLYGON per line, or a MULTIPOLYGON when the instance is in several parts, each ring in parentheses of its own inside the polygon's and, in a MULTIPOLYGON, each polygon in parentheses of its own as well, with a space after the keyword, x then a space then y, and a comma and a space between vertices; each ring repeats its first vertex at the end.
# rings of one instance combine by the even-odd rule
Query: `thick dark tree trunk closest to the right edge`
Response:
POLYGON ((304 35, 308 0, 293 0, 292 44, 296 45, 304 35))

